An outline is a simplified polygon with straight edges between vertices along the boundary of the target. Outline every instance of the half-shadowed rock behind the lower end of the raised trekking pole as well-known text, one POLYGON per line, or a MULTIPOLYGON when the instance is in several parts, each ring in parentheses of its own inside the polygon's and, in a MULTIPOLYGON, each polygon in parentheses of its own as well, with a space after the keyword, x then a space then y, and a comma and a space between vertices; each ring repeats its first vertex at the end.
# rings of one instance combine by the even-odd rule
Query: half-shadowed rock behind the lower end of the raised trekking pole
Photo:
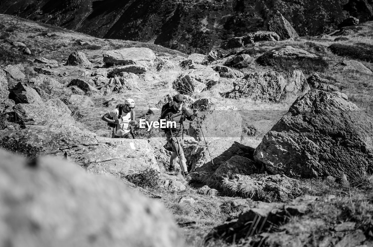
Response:
POLYGON ((239 144, 232 138, 216 139, 209 141, 207 145, 209 150, 207 150, 204 141, 184 147, 186 163, 191 166, 190 174, 192 178, 195 181, 207 182, 207 185, 209 185, 208 182, 216 169, 232 156, 239 155, 250 158, 250 153, 254 150, 239 144), (214 164, 211 163, 210 154, 214 164))

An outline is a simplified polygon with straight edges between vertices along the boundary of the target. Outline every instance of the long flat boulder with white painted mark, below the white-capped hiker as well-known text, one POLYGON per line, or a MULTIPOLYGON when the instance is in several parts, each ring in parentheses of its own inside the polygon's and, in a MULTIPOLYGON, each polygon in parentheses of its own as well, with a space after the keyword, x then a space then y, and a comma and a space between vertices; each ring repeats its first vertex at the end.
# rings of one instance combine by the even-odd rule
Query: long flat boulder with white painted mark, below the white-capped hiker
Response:
POLYGON ((0 131, 0 141, 12 142, 19 137, 29 147, 40 148, 41 153, 66 156, 85 168, 99 165, 118 178, 148 168, 159 171, 153 148, 142 139, 96 137, 75 126, 26 125, 25 129, 0 131))

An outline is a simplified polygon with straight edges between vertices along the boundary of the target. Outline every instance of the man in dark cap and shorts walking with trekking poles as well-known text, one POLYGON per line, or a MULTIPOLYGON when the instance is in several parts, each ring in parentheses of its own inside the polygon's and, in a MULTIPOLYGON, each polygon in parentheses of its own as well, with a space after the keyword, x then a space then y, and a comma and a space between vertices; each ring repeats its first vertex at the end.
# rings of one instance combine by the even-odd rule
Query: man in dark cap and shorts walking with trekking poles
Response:
POLYGON ((167 107, 164 110, 162 109, 162 115, 160 118, 165 119, 166 121, 176 122, 176 126, 173 126, 173 128, 165 129, 167 142, 172 147, 169 171, 175 170, 175 165, 179 159, 183 175, 187 176, 189 173, 186 168, 186 159, 182 149, 184 146, 183 121, 185 119, 193 121, 197 116, 198 111, 195 110, 193 114, 191 114, 190 111, 183 105, 184 98, 180 94, 173 96, 172 100, 172 103, 166 105, 167 107))

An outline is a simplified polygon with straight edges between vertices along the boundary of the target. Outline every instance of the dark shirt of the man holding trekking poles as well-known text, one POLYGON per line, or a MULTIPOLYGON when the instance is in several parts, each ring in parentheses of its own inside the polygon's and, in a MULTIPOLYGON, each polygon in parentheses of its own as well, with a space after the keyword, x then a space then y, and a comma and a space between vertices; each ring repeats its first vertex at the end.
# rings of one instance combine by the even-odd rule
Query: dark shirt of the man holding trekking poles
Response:
MULTIPOLYGON (((171 128, 172 134, 175 137, 180 137, 182 135, 183 130, 184 130, 182 122, 185 118, 188 119, 189 121, 192 121, 195 119, 195 116, 191 114, 186 107, 183 106, 181 111, 177 111, 175 110, 175 107, 173 107, 173 105, 167 108, 166 110, 164 110, 160 119, 168 120, 168 118, 171 115, 172 115, 172 119, 170 119, 170 121, 176 122, 176 128, 171 128)), ((166 134, 170 135, 169 129, 166 130, 166 134)))

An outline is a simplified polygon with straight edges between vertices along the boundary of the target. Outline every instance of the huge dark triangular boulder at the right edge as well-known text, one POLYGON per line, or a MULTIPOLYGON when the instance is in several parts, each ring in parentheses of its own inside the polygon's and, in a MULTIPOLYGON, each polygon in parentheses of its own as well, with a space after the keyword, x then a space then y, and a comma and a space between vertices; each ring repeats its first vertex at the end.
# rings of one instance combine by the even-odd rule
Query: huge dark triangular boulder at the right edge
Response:
POLYGON ((274 174, 313 178, 373 172, 373 117, 337 94, 298 98, 255 150, 274 174))

